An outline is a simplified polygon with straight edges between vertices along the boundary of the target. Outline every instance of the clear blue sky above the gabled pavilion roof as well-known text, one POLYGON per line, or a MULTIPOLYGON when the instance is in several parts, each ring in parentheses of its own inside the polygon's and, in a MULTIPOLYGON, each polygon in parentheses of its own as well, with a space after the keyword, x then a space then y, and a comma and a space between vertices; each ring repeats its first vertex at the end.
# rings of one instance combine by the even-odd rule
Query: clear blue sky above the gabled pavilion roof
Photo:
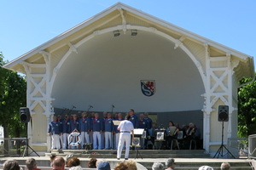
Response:
MULTIPOLYGON (((117 2, 1 1, 0 51, 3 52, 5 60, 15 59, 117 2)), ((256 56, 255 0, 120 2, 242 53, 256 56)))

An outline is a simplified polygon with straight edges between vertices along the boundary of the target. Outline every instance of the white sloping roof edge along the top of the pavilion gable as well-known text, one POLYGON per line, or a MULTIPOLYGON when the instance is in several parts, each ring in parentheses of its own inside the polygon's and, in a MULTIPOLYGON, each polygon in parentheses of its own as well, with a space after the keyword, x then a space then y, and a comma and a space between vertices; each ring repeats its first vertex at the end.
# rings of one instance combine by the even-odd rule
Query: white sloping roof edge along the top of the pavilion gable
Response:
POLYGON ((178 32, 183 37, 189 38, 190 40, 193 40, 195 42, 200 42, 201 44, 207 44, 211 46, 212 48, 217 48, 218 50, 223 51, 226 54, 230 54, 233 56, 236 56, 237 58, 241 60, 248 60, 248 64, 246 67, 249 67, 250 71, 245 76, 246 77, 253 77, 254 75, 254 65, 253 65, 253 57, 249 56, 247 54, 243 54, 235 49, 226 47, 218 42, 214 42, 210 39, 207 39, 206 37, 201 37, 191 31, 187 31, 181 27, 175 26, 169 22, 166 22, 165 20, 161 20, 157 17, 154 17, 150 14, 146 14, 143 11, 140 11, 136 8, 132 8, 124 3, 115 3, 113 6, 103 10, 101 13, 94 15, 88 20, 84 20, 84 22, 80 23, 77 26, 74 26, 73 28, 64 31, 59 36, 54 37, 50 39, 48 42, 44 42, 42 45, 38 46, 37 48, 32 49, 31 51, 27 52, 26 54, 21 55, 19 58, 14 59, 10 61, 8 64, 3 65, 4 68, 11 69, 17 71, 15 65, 19 65, 21 61, 24 61, 30 57, 32 57, 35 54, 40 53, 41 51, 44 51, 45 48, 49 48, 50 46, 54 45, 56 42, 60 42, 61 40, 73 35, 75 32, 80 31, 84 29, 86 26, 90 26, 91 24, 95 23, 96 20, 100 20, 103 17, 106 17, 108 14, 113 13, 114 11, 119 11, 119 9, 124 9, 125 11, 128 11, 130 14, 133 14, 133 16, 150 21, 151 23, 154 23, 155 26, 162 26, 166 29, 169 29, 170 31, 178 32))

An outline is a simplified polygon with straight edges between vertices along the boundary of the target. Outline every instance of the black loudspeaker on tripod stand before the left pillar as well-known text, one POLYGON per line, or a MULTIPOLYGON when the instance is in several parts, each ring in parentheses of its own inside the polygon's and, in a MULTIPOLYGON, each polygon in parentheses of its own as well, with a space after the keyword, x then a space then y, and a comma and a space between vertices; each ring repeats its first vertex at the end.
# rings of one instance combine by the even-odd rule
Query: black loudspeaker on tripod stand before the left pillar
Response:
MULTIPOLYGON (((30 120, 31 120, 31 116, 30 116, 29 109, 27 107, 20 107, 20 122, 25 122, 27 126, 27 123, 30 122, 30 120)), ((26 132, 26 146, 23 149, 23 157, 25 156, 25 153, 28 150, 27 148, 31 149, 32 153, 34 152, 37 156, 39 156, 38 153, 35 150, 33 150, 32 147, 30 147, 30 145, 28 144, 27 132, 26 132)))

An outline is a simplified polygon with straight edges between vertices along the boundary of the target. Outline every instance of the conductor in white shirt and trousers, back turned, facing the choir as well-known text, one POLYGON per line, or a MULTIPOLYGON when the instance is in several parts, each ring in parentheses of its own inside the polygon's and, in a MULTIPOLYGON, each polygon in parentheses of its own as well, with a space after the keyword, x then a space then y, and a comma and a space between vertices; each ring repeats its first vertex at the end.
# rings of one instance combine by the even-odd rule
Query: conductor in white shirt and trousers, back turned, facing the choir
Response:
POLYGON ((130 122, 131 116, 125 116, 125 120, 120 122, 118 130, 120 131, 119 135, 119 146, 117 151, 117 159, 119 160, 122 153, 122 148, 125 143, 125 160, 128 160, 129 157, 129 151, 130 151, 130 144, 131 144, 131 134, 132 134, 132 140, 134 139, 134 133, 133 133, 133 124, 130 122))

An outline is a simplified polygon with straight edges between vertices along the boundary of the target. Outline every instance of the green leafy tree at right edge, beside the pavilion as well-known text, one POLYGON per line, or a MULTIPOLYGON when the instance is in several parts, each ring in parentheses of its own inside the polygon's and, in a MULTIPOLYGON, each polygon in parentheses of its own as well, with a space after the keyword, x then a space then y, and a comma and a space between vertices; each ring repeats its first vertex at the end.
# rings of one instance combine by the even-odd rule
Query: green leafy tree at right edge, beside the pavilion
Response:
POLYGON ((247 82, 238 91, 238 136, 247 138, 256 133, 256 82, 252 78, 243 78, 240 84, 247 82))

